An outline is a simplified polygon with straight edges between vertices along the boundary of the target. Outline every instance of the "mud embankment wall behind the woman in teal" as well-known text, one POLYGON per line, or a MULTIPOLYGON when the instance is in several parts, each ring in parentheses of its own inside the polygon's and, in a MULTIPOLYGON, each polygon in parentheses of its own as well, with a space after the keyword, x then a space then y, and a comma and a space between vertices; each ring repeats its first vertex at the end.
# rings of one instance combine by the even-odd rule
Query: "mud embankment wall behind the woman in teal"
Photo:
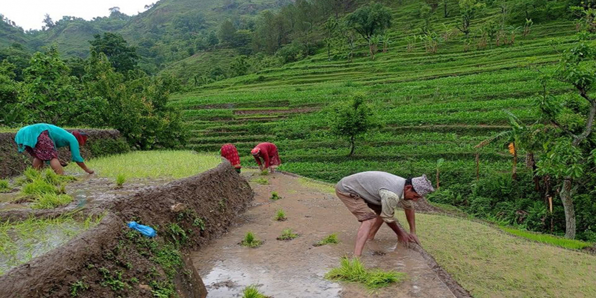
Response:
MULTIPOLYGON (((80 150, 83 159, 125 153, 129 150, 126 141, 115 129, 80 129, 80 131, 89 135, 87 143, 80 150)), ((14 142, 15 135, 15 132, 0 133, 0 178, 19 175, 31 165, 29 154, 18 153, 17 144, 14 142)), ((70 161, 69 148, 60 148, 58 156, 60 159, 70 161)))

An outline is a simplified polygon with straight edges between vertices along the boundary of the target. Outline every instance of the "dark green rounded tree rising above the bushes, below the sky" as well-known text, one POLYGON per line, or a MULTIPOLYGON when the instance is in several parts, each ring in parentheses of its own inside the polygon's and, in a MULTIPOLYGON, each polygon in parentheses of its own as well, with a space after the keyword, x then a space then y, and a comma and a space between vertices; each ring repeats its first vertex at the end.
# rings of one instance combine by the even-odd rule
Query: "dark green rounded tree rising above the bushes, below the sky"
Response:
POLYGON ((129 46, 122 35, 105 32, 104 35, 94 35, 94 40, 89 41, 91 51, 102 52, 119 73, 133 70, 139 58, 136 48, 129 46))

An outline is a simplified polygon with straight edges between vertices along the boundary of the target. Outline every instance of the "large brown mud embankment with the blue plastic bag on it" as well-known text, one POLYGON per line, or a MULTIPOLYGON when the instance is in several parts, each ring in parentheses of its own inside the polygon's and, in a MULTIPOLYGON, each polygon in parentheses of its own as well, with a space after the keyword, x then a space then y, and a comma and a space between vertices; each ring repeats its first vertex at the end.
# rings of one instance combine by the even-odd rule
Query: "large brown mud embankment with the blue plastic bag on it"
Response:
MULTIPOLYGON (((199 175, 124 195, 100 224, 0 276, 0 297, 206 296, 188 250, 227 231, 253 199, 228 162, 199 175), (156 228, 145 238, 126 227, 156 228)), ((99 212, 98 209, 83 213, 99 212)), ((2 219, 2 212, 0 212, 2 219)))

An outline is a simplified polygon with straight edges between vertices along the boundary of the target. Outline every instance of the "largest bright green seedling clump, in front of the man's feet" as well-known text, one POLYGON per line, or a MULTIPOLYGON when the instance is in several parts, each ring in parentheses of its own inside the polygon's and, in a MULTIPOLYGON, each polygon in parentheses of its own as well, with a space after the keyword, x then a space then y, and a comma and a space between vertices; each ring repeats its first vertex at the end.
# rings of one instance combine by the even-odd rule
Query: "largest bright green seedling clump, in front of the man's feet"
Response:
POLYGON ((364 268, 364 265, 357 257, 352 260, 342 257, 340 263, 341 265, 338 268, 333 268, 325 274, 327 280, 361 283, 368 290, 375 290, 401 282, 405 278, 405 274, 401 272, 364 268))

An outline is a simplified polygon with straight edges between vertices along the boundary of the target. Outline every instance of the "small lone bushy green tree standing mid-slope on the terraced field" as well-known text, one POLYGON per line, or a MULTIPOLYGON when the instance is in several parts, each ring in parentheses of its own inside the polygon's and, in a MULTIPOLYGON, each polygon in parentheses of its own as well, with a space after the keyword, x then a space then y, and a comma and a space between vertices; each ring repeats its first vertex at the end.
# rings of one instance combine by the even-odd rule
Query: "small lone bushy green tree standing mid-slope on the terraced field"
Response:
POLYGON ((364 102, 364 95, 357 94, 352 100, 333 107, 329 126, 332 134, 348 139, 349 156, 352 156, 356 148, 356 138, 377 128, 378 122, 373 110, 364 102))

